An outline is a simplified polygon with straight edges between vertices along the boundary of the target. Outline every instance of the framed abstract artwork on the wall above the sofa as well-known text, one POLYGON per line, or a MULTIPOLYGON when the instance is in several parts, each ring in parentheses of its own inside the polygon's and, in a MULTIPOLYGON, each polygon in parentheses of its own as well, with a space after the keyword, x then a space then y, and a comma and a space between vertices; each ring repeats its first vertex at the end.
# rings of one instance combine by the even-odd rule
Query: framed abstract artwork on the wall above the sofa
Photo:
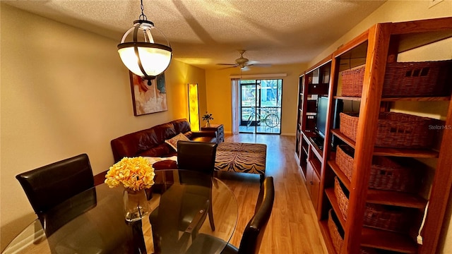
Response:
POLYGON ((165 73, 157 75, 155 79, 151 80, 152 85, 148 85, 148 80, 143 80, 130 71, 129 75, 135 116, 168 110, 165 73))

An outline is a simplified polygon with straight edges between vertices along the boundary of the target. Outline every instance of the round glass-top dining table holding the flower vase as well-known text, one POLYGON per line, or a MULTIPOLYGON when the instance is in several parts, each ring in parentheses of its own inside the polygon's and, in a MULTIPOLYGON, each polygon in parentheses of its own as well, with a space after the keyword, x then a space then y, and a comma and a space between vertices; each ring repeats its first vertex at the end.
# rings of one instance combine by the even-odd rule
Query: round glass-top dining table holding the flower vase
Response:
POLYGON ((146 190, 150 212, 127 222, 124 188, 102 183, 40 216, 8 244, 9 253, 185 253, 197 234, 222 239, 206 243, 203 254, 221 253, 237 224, 234 193, 219 179, 196 171, 155 171, 155 184, 146 190), (207 194, 206 194, 207 193, 207 194), (205 202, 203 197, 208 197, 205 202), (208 212, 212 205, 213 224, 208 212), (201 205, 197 205, 201 204, 201 205), (190 212, 198 214, 190 216, 190 212))

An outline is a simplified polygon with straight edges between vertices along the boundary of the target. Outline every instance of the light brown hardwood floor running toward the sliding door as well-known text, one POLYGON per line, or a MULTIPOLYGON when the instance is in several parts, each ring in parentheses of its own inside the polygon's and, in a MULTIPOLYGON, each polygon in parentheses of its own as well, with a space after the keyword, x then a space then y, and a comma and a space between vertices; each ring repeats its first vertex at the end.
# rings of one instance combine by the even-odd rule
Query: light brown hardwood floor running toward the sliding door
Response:
MULTIPOLYGON (((295 160, 295 137, 283 135, 226 135, 225 142, 267 145, 266 175, 275 181, 275 203, 260 254, 328 253, 314 207, 295 160)), ((239 203, 239 219, 230 243, 239 246, 242 232, 254 214, 259 192, 255 174, 222 172, 239 203)))

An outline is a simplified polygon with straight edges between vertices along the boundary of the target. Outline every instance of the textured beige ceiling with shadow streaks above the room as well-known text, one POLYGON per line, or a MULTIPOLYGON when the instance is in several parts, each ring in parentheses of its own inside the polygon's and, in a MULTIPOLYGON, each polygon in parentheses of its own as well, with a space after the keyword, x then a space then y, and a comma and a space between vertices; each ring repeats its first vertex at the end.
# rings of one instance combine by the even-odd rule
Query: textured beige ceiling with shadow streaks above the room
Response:
MULTIPOLYGON (((121 40, 141 14, 140 1, 2 2, 121 40)), ((369 16, 384 1, 143 0, 144 13, 169 40, 173 58, 200 68, 234 63, 238 49, 260 63, 304 63, 369 16)), ((21 20, 23 22, 23 20, 21 20)))

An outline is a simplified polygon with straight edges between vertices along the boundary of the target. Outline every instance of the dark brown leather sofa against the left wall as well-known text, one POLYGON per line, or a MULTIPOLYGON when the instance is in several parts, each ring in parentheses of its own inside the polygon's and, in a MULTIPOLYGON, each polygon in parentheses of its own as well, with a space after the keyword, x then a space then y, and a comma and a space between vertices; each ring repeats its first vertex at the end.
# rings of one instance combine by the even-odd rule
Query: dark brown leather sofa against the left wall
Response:
POLYGON ((183 133, 189 140, 212 142, 217 141, 216 131, 191 131, 190 123, 186 119, 178 119, 169 123, 136 131, 115 138, 111 141, 114 162, 123 157, 171 157, 177 152, 165 140, 183 133))

